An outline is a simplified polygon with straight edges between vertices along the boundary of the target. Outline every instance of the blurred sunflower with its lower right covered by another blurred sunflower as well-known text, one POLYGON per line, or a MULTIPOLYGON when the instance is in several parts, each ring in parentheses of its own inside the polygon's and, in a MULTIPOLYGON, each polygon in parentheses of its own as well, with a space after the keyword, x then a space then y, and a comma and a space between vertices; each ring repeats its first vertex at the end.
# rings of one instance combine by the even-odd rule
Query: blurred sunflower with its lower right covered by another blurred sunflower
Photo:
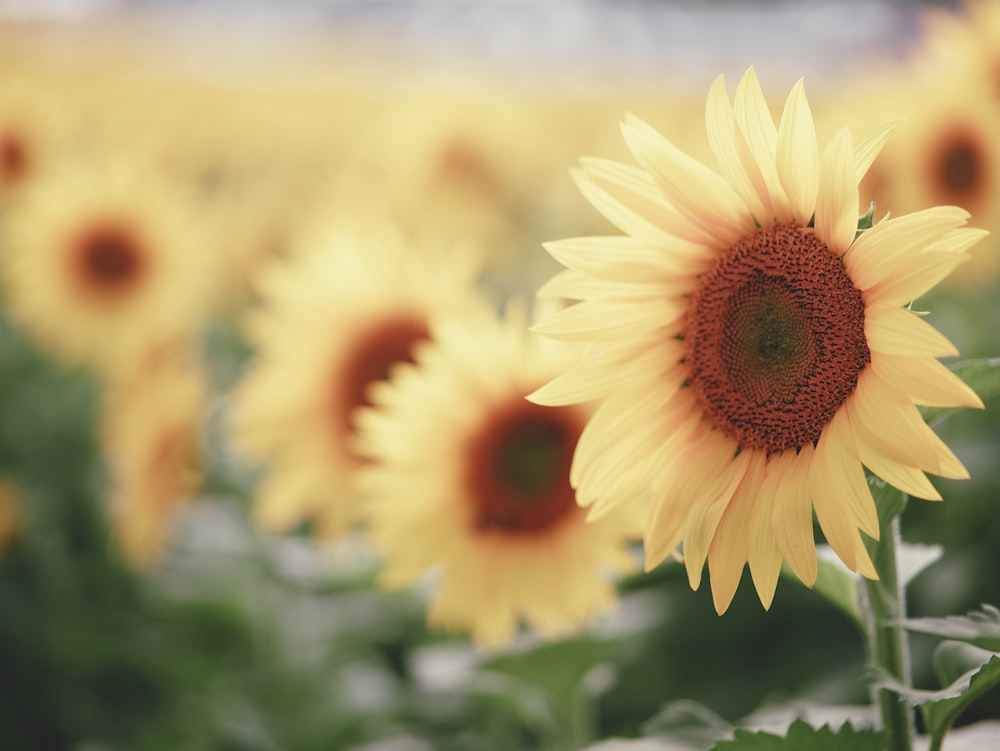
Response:
POLYGON ((247 337, 256 357, 232 394, 236 448, 266 467, 254 519, 321 537, 355 516, 354 412, 369 386, 411 360, 438 320, 473 303, 477 259, 387 230, 334 230, 265 269, 247 337))

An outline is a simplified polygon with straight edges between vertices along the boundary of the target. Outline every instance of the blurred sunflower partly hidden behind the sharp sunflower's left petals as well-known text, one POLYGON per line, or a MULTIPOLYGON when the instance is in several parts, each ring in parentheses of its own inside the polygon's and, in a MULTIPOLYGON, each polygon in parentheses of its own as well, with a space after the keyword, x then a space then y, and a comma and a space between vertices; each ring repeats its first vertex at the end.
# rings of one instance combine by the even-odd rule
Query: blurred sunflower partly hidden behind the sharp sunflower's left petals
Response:
POLYGON ((382 582, 440 573, 428 621, 498 646, 519 620, 564 634, 614 602, 641 507, 588 524, 569 484, 590 410, 525 395, 579 349, 527 335, 524 315, 453 320, 358 416, 368 538, 382 582), (557 345, 557 346, 553 346, 557 345))

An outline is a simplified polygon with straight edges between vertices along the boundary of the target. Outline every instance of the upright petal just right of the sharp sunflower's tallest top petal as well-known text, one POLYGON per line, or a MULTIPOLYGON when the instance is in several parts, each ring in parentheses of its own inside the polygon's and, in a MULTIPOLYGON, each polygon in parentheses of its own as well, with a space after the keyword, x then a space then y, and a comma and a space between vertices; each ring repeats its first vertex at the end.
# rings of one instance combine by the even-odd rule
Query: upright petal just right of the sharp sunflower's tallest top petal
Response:
POLYGON ((816 145, 816 126, 801 78, 788 94, 778 125, 777 167, 778 177, 788 195, 792 219, 796 224, 805 226, 816 210, 819 148, 816 145))

